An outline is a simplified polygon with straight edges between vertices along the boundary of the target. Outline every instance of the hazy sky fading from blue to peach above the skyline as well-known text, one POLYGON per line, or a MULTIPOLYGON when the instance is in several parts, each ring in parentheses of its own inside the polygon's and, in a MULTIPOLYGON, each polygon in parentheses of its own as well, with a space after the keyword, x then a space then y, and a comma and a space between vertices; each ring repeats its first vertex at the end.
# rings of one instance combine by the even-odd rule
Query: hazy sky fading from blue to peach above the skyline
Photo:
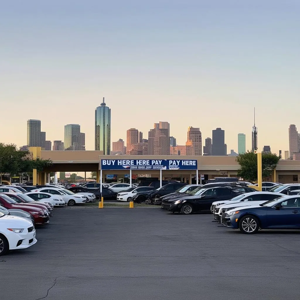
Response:
POLYGON ((251 147, 288 150, 299 121, 300 2, 2 1, 0 142, 26 144, 27 119, 46 140, 78 123, 94 150, 95 108, 111 108, 112 141, 135 127, 147 138, 168 121, 182 145, 188 126, 237 134, 251 147), (109 2, 109 3, 108 3, 109 2))

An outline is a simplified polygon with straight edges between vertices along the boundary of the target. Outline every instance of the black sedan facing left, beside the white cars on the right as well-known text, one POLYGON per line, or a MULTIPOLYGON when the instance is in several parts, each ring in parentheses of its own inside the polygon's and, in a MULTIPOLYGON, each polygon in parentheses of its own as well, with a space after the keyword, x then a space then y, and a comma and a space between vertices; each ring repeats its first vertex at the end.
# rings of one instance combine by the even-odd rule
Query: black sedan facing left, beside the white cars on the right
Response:
POLYGON ((191 214, 196 211, 209 211, 215 201, 225 201, 241 194, 232 187, 211 187, 199 195, 180 197, 178 200, 162 202, 162 208, 172 213, 191 214))

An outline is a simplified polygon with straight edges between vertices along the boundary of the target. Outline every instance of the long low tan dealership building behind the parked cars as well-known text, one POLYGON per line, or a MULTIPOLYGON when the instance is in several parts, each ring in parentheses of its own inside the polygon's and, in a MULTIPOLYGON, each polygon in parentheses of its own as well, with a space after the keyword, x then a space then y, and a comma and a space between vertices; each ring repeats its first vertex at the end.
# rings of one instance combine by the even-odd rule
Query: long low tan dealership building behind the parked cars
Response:
MULTIPOLYGON (((53 162, 44 172, 34 170, 34 183, 44 184, 49 172, 97 172, 97 182, 108 178, 118 181, 129 178, 155 177, 198 182, 214 177, 237 177, 239 164, 232 156, 180 155, 103 155, 102 151, 42 151, 30 147, 33 158, 53 162), (105 161, 105 162, 104 162, 105 161), (113 161, 115 161, 113 163, 113 161), (108 164, 109 163, 109 164, 108 164)), ((280 183, 300 183, 300 161, 280 160, 276 170, 266 179, 280 183)))

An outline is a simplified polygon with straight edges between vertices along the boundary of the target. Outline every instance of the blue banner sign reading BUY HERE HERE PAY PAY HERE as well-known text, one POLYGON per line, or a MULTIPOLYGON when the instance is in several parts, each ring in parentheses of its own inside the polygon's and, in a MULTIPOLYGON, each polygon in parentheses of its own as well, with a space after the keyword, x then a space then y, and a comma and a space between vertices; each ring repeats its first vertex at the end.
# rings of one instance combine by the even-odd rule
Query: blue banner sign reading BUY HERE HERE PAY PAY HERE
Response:
POLYGON ((197 170, 196 159, 101 159, 102 170, 197 170))

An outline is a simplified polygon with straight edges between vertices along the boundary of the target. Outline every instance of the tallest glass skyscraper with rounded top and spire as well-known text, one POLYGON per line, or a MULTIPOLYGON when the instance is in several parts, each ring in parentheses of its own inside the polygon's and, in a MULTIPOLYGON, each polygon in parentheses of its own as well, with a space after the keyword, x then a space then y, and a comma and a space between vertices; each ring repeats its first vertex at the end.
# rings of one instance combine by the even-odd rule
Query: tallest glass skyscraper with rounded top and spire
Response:
POLYGON ((110 108, 103 102, 95 110, 95 150, 110 155, 110 108))

